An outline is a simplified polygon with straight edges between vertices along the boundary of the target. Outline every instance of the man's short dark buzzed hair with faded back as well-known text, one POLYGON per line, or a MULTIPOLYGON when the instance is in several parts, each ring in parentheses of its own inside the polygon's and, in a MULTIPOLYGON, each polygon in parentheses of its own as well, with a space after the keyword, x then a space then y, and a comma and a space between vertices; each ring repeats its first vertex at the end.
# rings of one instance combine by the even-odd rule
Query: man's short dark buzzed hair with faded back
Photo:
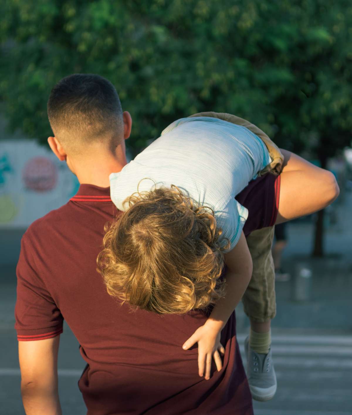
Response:
POLYGON ((99 75, 75 73, 61 79, 48 99, 48 118, 61 144, 82 144, 123 132, 120 99, 113 84, 99 75))

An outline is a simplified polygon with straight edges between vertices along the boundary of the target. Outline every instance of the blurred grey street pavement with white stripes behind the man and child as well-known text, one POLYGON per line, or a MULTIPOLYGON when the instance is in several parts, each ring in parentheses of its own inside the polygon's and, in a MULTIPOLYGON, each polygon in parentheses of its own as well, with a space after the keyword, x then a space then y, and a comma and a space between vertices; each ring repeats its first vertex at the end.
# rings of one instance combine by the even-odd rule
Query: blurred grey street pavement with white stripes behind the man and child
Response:
MULTIPOLYGON (((310 298, 294 300, 292 281, 277 283, 277 317, 273 321, 273 357, 278 378, 275 397, 254 402, 256 415, 352 414, 352 194, 338 207, 339 221, 330 226, 325 259, 312 260, 309 222, 289 227, 284 266, 293 277, 298 263, 312 270, 310 298)), ((13 330, 14 266, 2 269, 0 290, 0 414, 23 412, 19 393, 17 341, 13 330)), ((241 306, 236 310, 239 343, 248 331, 241 306)), ((85 413, 77 388, 84 362, 65 326, 60 339, 59 390, 65 415, 85 413)))

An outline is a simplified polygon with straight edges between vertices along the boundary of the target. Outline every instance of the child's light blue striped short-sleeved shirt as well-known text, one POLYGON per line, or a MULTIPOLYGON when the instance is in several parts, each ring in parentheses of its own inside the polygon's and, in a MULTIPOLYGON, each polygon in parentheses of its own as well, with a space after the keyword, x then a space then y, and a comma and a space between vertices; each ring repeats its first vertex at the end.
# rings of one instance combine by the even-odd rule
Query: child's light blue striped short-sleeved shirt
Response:
POLYGON ((212 117, 181 118, 119 173, 111 173, 111 199, 125 210, 123 201, 137 192, 138 183, 139 191, 151 190, 154 182, 158 187, 174 184, 214 210, 232 249, 248 217, 234 197, 270 161, 263 141, 246 127, 212 117))

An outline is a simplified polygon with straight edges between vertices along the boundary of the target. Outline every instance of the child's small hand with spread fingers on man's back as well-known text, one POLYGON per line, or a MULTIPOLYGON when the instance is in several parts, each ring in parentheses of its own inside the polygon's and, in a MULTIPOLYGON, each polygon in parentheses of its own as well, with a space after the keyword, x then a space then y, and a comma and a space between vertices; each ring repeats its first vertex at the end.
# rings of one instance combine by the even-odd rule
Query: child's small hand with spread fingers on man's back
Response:
POLYGON ((206 380, 210 379, 212 356, 217 370, 222 368, 222 359, 219 353, 224 355, 225 349, 220 343, 220 334, 221 329, 219 330, 219 327, 212 325, 207 320, 205 325, 200 326, 182 346, 184 350, 187 350, 198 342, 198 372, 199 376, 203 376, 205 370, 206 380))

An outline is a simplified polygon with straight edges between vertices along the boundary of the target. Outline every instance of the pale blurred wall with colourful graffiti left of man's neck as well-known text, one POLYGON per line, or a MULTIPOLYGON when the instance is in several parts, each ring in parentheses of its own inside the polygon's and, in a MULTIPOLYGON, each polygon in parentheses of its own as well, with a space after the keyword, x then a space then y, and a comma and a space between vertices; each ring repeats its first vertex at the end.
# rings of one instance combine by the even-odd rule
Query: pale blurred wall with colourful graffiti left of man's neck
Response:
POLYGON ((65 162, 30 140, 0 142, 0 227, 28 227, 77 193, 65 162))

